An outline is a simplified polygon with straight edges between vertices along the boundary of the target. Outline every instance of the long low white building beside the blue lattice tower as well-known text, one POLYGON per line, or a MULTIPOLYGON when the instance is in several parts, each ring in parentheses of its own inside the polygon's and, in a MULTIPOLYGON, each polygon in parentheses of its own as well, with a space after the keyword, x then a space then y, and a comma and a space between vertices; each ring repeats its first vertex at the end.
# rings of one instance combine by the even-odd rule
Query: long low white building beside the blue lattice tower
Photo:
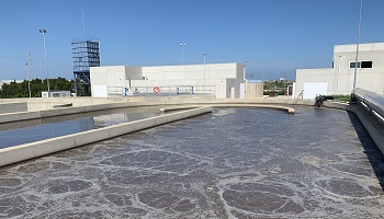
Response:
POLYGON ((105 66, 91 67, 94 97, 146 94, 213 94, 217 99, 245 97, 244 64, 184 66, 105 66))

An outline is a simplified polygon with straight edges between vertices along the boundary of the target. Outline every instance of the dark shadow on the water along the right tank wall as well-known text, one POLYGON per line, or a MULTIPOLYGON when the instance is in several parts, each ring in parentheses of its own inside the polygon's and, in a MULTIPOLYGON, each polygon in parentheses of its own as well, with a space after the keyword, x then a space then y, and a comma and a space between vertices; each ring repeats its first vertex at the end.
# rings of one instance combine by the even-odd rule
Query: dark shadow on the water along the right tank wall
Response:
POLYGON ((376 143, 370 137, 370 134, 365 130, 359 117, 351 112, 348 112, 348 116, 359 136, 359 140, 364 149, 364 153, 366 154, 366 158, 369 159, 372 169, 377 180, 380 181, 380 185, 384 191, 384 155, 377 148, 376 143))

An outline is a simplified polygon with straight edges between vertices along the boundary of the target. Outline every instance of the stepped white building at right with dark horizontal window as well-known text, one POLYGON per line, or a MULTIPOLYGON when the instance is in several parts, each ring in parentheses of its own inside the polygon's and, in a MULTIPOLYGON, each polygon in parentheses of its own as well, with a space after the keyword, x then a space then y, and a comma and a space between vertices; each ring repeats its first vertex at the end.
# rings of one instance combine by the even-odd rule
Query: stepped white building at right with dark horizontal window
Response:
MULTIPOLYGON (((294 97, 349 95, 353 90, 357 45, 336 45, 332 68, 297 69, 294 97)), ((360 44, 357 88, 384 94, 384 43, 360 44)))

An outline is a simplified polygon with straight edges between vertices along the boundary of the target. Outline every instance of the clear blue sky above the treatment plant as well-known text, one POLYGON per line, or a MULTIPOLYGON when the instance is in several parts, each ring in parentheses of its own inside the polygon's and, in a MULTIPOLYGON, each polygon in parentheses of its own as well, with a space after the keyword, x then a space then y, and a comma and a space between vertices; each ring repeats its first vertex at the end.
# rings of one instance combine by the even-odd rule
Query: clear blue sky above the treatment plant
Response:
MULTIPOLYGON (((355 44, 360 0, 1 0, 0 80, 72 78, 71 38, 101 44, 102 66, 245 62, 253 79, 328 68, 334 45, 355 44), (86 32, 82 28, 84 12, 86 32)), ((364 0, 361 43, 384 42, 384 1, 364 0)))

